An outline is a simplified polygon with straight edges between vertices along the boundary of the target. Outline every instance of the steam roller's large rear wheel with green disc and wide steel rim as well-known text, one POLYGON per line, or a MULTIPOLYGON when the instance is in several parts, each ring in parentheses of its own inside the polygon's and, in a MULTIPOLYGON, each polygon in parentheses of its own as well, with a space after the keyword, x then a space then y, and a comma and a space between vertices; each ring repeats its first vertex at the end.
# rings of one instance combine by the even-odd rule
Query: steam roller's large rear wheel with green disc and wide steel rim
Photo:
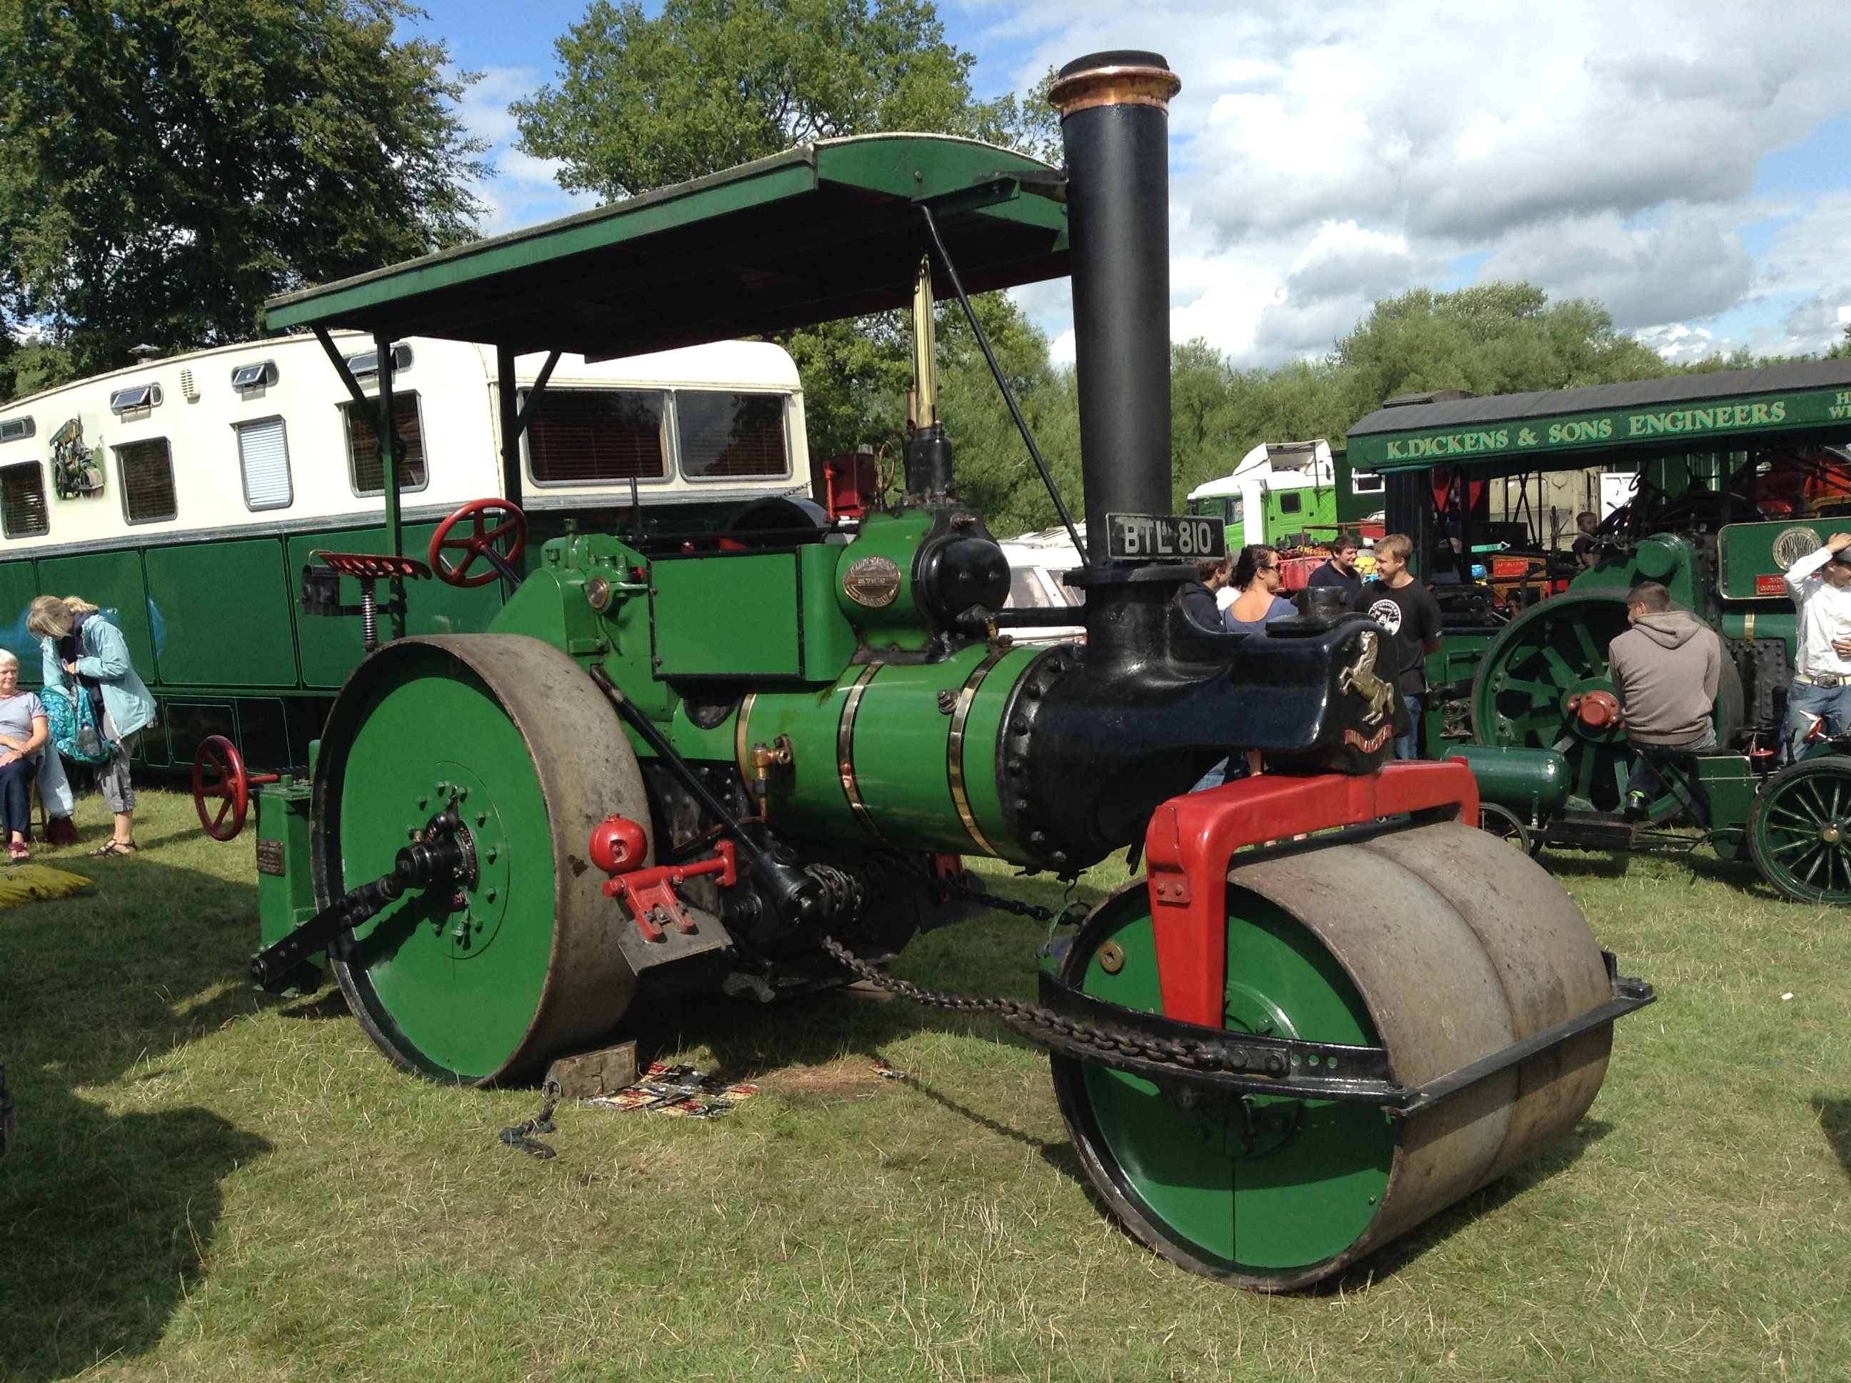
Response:
POLYGON ((570 657, 524 635, 402 639, 348 679, 315 781, 322 905, 392 866, 453 804, 472 870, 411 891, 331 955, 366 1035, 400 1066, 518 1079, 607 1033, 635 976, 590 829, 648 828, 635 754, 570 657))

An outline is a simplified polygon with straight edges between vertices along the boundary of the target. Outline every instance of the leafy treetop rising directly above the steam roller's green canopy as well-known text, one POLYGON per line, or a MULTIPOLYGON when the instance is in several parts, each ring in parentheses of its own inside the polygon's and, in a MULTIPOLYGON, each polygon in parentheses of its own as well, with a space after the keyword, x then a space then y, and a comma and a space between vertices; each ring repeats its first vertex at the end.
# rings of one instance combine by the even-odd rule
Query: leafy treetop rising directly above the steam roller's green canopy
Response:
POLYGON ((520 146, 605 198, 813 139, 926 130, 1044 152, 1051 118, 970 93, 970 54, 926 0, 594 0, 559 80, 513 106, 520 146))

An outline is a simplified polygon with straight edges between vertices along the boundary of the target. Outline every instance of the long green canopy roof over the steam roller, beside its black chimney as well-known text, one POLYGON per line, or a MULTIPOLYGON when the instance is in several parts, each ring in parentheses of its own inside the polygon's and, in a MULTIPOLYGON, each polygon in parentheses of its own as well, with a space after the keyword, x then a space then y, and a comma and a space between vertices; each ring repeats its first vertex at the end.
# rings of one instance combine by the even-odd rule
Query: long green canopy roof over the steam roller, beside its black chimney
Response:
MULTIPOLYGON (((933 207, 964 287, 1066 274, 1044 163, 951 135, 831 139, 268 302, 320 326, 635 355, 903 307, 933 207)), ((950 294, 950 280, 940 296, 950 294)))

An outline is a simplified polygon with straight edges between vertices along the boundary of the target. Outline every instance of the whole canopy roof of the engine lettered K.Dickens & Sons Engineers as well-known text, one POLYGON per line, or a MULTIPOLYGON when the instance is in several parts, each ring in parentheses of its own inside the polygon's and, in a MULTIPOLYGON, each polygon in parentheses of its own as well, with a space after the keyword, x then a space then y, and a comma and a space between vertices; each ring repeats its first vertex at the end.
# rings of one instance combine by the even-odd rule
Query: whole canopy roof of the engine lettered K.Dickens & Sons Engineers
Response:
POLYGON ((1509 476, 1851 437, 1851 359, 1492 398, 1409 396, 1349 430, 1357 470, 1509 476))

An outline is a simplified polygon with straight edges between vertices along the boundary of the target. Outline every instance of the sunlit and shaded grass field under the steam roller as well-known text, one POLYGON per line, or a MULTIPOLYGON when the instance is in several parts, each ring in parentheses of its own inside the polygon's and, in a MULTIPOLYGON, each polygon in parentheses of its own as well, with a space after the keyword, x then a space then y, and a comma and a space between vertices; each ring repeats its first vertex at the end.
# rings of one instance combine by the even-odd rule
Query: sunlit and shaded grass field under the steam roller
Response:
MULTIPOLYGON (((80 820, 102 839, 94 798, 80 820)), ((250 835, 148 794, 143 841, 61 852, 87 894, 0 911, 0 1377, 1851 1374, 1851 918, 1745 866, 1557 857, 1662 994, 1590 1118, 1279 1300, 1114 1227, 1042 1055, 900 1002, 659 1015, 659 1055, 764 1092, 709 1124, 572 1107, 557 1159, 509 1152, 533 1092, 422 1085, 337 996, 250 992, 250 835)), ((896 970, 1029 994, 1038 941, 998 916, 896 970)))

